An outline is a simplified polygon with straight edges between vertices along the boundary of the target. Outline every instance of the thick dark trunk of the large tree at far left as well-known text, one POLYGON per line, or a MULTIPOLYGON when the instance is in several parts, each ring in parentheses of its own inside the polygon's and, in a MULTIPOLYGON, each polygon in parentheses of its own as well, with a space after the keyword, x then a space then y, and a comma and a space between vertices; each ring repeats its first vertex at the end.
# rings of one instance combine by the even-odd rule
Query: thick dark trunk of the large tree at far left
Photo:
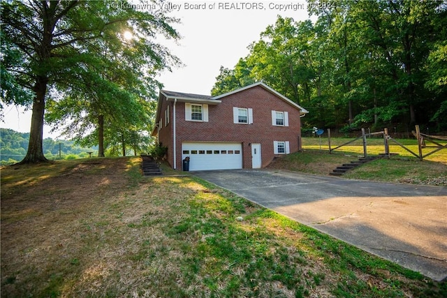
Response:
POLYGON ((43 155, 43 116, 45 114, 47 84, 47 77, 37 77, 36 84, 34 85, 36 97, 33 101, 28 151, 20 163, 42 163, 48 161, 43 155))

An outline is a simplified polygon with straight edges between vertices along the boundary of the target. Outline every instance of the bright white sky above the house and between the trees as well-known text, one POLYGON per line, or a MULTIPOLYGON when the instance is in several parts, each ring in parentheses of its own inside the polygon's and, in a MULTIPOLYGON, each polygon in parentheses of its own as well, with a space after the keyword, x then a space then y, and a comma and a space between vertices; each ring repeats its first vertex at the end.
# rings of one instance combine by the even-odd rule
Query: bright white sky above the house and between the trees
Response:
MULTIPOLYGON (((164 71, 157 77, 163 89, 193 94, 210 94, 221 66, 233 68, 237 61, 249 54, 247 47, 260 39, 260 34, 277 16, 293 17, 295 21, 309 18, 307 2, 301 1, 166 1, 170 17, 180 19, 173 24, 182 38, 178 43, 157 40, 166 45, 184 64, 164 71)), ((142 10, 151 8, 138 7, 142 10)), ((22 107, 6 106, 5 122, 1 128, 28 133, 31 111, 22 107)), ((59 137, 44 127, 43 137, 59 137)))

